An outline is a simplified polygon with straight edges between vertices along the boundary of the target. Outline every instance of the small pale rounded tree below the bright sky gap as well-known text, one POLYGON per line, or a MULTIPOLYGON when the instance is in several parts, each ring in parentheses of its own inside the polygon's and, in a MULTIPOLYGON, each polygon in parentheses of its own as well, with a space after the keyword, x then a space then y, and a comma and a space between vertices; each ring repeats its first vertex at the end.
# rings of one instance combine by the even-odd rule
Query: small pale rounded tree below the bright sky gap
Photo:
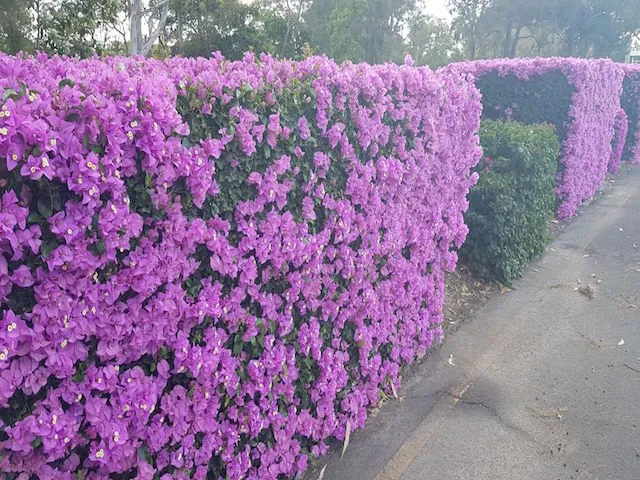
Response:
POLYGON ((450 25, 430 15, 418 15, 409 21, 407 46, 417 65, 438 68, 462 58, 450 25))

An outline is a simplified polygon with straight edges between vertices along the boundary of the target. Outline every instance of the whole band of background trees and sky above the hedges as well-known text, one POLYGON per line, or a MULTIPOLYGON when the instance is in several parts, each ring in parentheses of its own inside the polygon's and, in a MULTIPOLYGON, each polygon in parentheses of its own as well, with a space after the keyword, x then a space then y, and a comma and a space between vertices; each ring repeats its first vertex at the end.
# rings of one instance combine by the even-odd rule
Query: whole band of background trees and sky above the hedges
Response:
POLYGON ((439 67, 537 55, 623 60, 640 31, 640 0, 445 0, 449 20, 427 14, 435 1, 0 0, 0 49, 81 57, 221 51, 231 59, 254 50, 370 63, 410 53, 439 67))

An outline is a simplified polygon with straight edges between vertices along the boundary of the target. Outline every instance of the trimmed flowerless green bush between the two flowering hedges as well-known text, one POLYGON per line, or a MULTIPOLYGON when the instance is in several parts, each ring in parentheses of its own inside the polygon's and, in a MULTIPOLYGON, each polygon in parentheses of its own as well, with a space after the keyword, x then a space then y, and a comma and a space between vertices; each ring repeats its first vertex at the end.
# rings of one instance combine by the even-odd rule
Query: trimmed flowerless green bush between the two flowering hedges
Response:
POLYGON ((485 156, 460 254, 477 273, 509 284, 548 241, 560 144, 546 125, 486 120, 480 141, 485 156))

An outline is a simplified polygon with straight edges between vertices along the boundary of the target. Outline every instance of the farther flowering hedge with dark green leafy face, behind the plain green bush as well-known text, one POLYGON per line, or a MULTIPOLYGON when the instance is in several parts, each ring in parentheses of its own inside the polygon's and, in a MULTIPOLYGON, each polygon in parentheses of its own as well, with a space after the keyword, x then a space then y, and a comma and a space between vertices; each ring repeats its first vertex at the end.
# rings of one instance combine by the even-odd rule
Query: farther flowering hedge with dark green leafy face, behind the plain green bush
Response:
POLYGON ((454 64, 470 72, 487 118, 551 122, 562 141, 557 214, 566 219, 604 181, 624 73, 610 60, 498 59, 454 64))

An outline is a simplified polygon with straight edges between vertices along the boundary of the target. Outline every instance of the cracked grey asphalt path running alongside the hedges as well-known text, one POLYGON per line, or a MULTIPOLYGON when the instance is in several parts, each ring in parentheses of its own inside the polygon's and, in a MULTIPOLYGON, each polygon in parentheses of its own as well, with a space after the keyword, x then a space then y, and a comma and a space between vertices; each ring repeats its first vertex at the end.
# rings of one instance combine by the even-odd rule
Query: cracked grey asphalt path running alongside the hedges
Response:
POLYGON ((640 169, 624 170, 325 480, 640 480, 640 169))

